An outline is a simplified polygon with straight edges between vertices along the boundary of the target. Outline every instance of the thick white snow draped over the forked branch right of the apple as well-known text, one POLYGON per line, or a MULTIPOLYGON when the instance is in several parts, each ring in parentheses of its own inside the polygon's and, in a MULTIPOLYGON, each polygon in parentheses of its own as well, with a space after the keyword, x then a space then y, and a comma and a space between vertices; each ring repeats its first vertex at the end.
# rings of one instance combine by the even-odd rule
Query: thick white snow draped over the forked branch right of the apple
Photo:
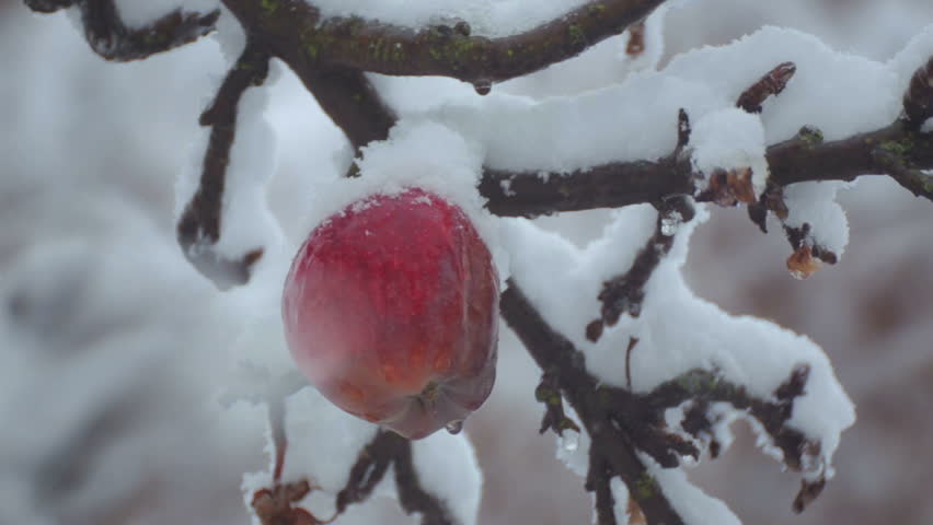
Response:
POLYGON ((654 211, 642 210, 646 211, 638 207, 617 211, 617 226, 583 250, 528 221, 509 221, 505 238, 512 248, 514 278, 551 326, 585 352, 588 370, 606 384, 625 386, 624 349, 630 337, 638 338, 630 371, 636 392, 703 369, 716 370, 751 395, 770 399, 795 366, 808 364, 806 392, 795 400, 790 424, 821 442, 821 456, 813 468, 830 470, 839 435, 854 422, 854 410, 820 348, 764 319, 729 316, 693 295, 683 282, 680 267, 690 234, 705 219, 702 207, 698 219, 679 230, 670 255, 646 284, 641 316, 622 316, 597 343, 585 338, 584 327, 599 315, 599 283, 629 268, 625 254, 640 249, 650 231, 653 221, 644 217, 653 218, 654 211), (575 308, 568 312, 566 304, 575 308))

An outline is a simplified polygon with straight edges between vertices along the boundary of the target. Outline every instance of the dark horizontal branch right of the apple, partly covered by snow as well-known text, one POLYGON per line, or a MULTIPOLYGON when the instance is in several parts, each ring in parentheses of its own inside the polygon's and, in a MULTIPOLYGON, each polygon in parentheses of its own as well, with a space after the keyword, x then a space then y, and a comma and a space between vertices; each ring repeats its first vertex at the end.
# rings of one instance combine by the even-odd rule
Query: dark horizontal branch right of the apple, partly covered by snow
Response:
MULTIPOLYGON (((913 131, 902 122, 832 142, 822 142, 813 128, 804 128, 794 138, 769 147, 765 158, 775 186, 887 174, 915 195, 933 200, 933 178, 921 171, 933 168, 933 133, 913 131), (899 162, 911 166, 906 172, 910 175, 890 170, 877 158, 877 149, 894 151, 899 162)), ((615 162, 571 173, 486 168, 479 188, 491 212, 535 217, 693 195, 693 178, 689 159, 668 155, 654 162, 615 162)))

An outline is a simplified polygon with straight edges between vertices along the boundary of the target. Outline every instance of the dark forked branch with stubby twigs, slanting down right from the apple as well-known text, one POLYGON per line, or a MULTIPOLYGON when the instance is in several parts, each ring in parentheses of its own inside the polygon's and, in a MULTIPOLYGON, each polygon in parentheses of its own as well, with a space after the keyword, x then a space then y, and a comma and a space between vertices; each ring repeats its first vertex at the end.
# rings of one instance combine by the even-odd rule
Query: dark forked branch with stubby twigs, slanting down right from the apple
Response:
MULTIPOLYGON (((784 453, 788 468, 802 470, 819 455, 818 442, 787 425, 794 401, 804 393, 809 375, 807 365, 795 368, 770 399, 750 395, 745 386, 725 381, 715 370, 691 370, 649 393, 633 394, 598 382, 586 370, 583 353, 548 325, 511 280, 503 292, 500 308, 506 323, 574 407, 592 439, 587 490, 597 492, 597 508, 606 505, 609 479, 620 476, 644 511, 647 523, 681 523, 634 451, 648 454, 664 468, 677 467, 682 456, 699 457, 700 451, 692 443, 666 428, 665 410, 684 402, 690 402, 691 409, 682 428, 698 439, 712 435, 716 421, 707 409, 713 402, 722 401, 760 422, 774 446, 784 453)), ((706 443, 712 440, 706 438, 706 443)), ((804 483, 795 508, 799 502, 811 501, 821 482, 818 479, 804 483)), ((598 510, 597 514, 600 523, 612 523, 604 521, 604 510, 601 513, 598 510)))

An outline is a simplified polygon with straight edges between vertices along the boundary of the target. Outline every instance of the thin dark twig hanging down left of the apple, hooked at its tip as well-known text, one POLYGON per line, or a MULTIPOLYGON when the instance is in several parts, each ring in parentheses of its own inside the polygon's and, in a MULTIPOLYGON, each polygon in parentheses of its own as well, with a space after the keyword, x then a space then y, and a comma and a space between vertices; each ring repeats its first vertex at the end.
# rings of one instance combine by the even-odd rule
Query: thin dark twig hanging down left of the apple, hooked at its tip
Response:
POLYGON ((263 255, 263 249, 256 248, 239 260, 230 260, 211 248, 220 240, 221 205, 240 98, 250 86, 265 81, 268 59, 265 51, 247 42, 214 102, 201 114, 200 125, 211 128, 210 139, 197 191, 185 207, 176 229, 185 257, 221 290, 247 282, 252 266, 263 255))

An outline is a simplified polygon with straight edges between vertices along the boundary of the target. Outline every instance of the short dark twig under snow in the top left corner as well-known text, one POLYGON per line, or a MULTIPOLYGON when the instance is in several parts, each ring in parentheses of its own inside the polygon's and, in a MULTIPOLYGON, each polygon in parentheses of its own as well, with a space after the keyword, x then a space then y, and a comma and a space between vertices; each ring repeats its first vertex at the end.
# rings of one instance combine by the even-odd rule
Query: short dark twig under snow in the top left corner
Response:
POLYGON ((215 30, 219 10, 207 14, 172 11, 142 27, 128 27, 114 0, 25 0, 33 11, 50 13, 77 5, 81 10, 84 37, 91 48, 107 60, 148 58, 189 44, 215 30))

